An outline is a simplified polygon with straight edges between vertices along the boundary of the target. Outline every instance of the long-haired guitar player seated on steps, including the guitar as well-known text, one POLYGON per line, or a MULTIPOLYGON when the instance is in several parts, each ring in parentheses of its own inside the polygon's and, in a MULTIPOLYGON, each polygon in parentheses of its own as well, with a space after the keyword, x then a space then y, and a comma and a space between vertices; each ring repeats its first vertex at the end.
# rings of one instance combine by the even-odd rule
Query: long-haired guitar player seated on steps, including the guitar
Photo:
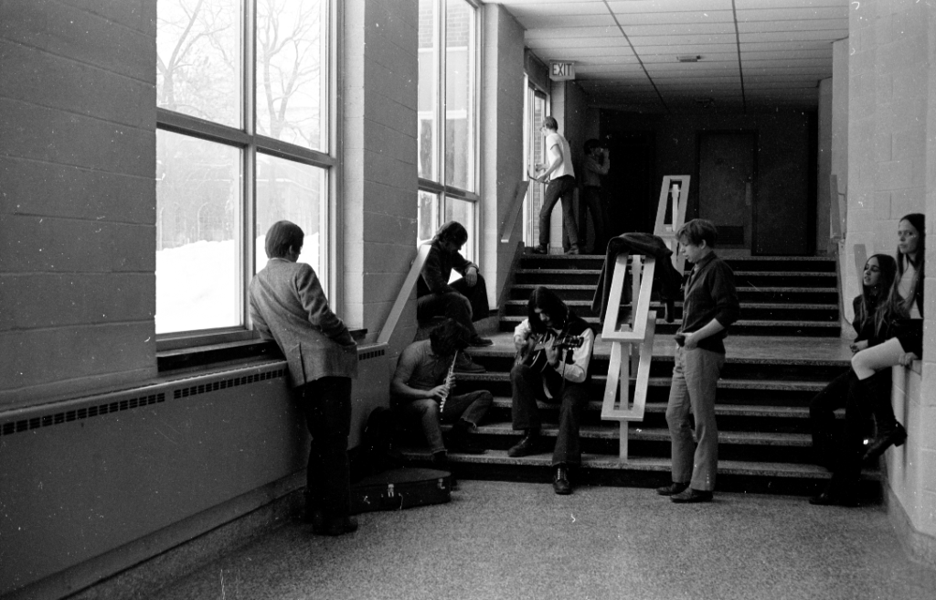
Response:
POLYGON ((572 493, 569 469, 581 464, 578 421, 588 402, 594 333, 554 292, 539 286, 530 295, 527 318, 514 329, 514 346, 517 360, 510 371, 513 426, 524 434, 507 455, 535 454, 542 428, 536 401, 559 404, 552 487, 558 494, 572 493))

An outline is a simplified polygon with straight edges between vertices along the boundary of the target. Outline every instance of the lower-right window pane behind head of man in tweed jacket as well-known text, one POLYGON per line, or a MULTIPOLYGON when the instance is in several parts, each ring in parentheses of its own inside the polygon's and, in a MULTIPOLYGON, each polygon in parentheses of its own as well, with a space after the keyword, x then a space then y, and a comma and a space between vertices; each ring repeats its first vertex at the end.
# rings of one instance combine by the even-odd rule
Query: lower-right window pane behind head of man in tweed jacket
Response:
POLYGON ((322 240, 326 198, 326 172, 268 154, 256 155, 256 271, 267 264, 267 231, 277 221, 292 221, 302 228, 300 262, 308 263, 326 285, 322 240))

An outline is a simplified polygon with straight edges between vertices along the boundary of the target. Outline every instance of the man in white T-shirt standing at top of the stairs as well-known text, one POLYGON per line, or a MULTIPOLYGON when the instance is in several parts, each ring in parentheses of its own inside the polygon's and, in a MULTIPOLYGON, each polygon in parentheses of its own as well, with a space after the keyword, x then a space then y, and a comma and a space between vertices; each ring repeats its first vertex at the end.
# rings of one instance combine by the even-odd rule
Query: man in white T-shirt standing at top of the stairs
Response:
POLYGON ((572 152, 569 150, 569 142, 559 135, 559 124, 552 117, 543 119, 543 126, 539 130, 546 138, 546 153, 549 162, 536 164, 536 172, 543 171, 543 173, 535 179, 539 183, 548 183, 548 185, 546 198, 543 199, 543 208, 539 212, 539 245, 533 251, 538 255, 549 253, 549 216, 552 214, 552 207, 562 198, 563 229, 569 239, 569 247, 565 254, 577 255, 578 226, 573 206, 576 173, 572 169, 572 152))

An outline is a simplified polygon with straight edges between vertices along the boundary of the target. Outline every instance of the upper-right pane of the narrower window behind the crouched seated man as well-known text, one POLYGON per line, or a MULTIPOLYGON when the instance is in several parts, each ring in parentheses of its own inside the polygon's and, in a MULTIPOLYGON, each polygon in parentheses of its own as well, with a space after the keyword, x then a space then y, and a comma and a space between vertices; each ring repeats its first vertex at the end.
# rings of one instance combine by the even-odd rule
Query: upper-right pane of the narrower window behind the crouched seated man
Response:
POLYGON ((446 3, 446 184, 475 191, 475 9, 446 3))

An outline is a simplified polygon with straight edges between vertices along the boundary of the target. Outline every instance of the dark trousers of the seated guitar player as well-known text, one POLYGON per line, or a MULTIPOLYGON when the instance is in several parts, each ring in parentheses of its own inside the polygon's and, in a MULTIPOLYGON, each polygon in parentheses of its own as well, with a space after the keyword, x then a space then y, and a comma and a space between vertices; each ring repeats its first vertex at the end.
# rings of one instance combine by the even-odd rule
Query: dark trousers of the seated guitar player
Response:
POLYGON ((542 419, 536 401, 559 404, 559 433, 556 447, 552 452, 552 464, 578 466, 582 461, 581 447, 578 445, 578 424, 582 408, 588 402, 588 390, 585 384, 563 382, 556 373, 540 373, 526 365, 517 365, 510 371, 510 386, 513 388, 511 413, 515 430, 539 430, 542 419), (552 377, 552 375, 555 375, 552 377), (543 391, 543 377, 549 378, 547 398, 543 391))

